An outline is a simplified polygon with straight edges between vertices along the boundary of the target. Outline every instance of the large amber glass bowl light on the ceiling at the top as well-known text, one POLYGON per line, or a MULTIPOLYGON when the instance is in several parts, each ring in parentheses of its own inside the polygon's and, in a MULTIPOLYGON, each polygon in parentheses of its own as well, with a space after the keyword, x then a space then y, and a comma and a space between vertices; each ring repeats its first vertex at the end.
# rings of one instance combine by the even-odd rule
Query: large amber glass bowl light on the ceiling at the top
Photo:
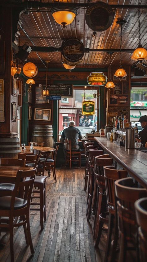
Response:
POLYGON ((77 15, 76 7, 52 7, 51 15, 54 17, 56 23, 61 24, 63 28, 67 24, 71 24, 77 15))

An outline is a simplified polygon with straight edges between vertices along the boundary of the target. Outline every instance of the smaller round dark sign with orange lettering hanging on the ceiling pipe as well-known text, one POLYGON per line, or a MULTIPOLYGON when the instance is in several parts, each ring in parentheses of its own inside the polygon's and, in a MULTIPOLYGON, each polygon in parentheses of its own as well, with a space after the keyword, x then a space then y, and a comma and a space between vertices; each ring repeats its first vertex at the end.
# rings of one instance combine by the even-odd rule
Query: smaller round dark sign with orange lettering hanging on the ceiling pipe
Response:
POLYGON ((69 38, 63 41, 61 51, 66 60, 77 62, 84 55, 84 45, 77 38, 69 38))

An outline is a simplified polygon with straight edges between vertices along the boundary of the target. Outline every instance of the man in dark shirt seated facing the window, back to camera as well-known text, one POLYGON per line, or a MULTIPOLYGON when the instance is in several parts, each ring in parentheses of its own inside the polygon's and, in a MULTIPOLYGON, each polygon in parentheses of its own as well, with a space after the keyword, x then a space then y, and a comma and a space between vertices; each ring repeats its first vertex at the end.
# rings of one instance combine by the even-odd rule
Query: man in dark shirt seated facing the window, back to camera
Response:
MULTIPOLYGON (((71 140, 71 149, 72 151, 78 151, 80 149, 79 145, 78 145, 78 139, 82 139, 83 136, 81 135, 81 131, 75 127, 75 122, 74 121, 70 121, 69 122, 69 127, 65 128, 62 132, 61 138, 60 138, 60 142, 62 144, 65 143, 65 139, 70 139, 71 140)), ((66 159, 66 146, 64 144, 63 146, 63 152, 64 152, 64 156, 66 159)))

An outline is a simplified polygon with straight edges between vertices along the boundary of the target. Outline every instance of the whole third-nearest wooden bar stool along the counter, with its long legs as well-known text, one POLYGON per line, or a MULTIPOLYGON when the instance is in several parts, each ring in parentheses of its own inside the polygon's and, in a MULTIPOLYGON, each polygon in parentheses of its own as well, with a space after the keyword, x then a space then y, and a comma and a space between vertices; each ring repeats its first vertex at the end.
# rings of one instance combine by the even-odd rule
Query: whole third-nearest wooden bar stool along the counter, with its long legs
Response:
POLYGON ((111 258, 109 261, 114 262, 115 254, 116 254, 116 245, 118 240, 118 220, 117 220, 117 211, 115 207, 116 198, 115 198, 115 190, 114 190, 114 181, 127 177, 127 171, 117 170, 115 169, 114 166, 105 166, 104 176, 105 176, 105 185, 106 185, 107 205, 108 205, 108 212, 109 212, 108 236, 107 236, 104 262, 108 261, 110 247, 111 247, 113 226, 114 226, 114 241, 113 241, 113 247, 111 252, 111 258))

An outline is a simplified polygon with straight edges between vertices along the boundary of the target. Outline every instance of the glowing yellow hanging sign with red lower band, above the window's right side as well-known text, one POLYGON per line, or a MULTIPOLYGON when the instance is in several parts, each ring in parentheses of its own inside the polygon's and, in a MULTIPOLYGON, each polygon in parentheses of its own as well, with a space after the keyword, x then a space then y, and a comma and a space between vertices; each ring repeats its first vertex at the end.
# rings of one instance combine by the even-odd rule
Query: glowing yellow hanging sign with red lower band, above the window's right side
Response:
POLYGON ((102 87, 105 86, 107 82, 107 77, 102 72, 92 72, 87 77, 88 85, 93 87, 102 87))

